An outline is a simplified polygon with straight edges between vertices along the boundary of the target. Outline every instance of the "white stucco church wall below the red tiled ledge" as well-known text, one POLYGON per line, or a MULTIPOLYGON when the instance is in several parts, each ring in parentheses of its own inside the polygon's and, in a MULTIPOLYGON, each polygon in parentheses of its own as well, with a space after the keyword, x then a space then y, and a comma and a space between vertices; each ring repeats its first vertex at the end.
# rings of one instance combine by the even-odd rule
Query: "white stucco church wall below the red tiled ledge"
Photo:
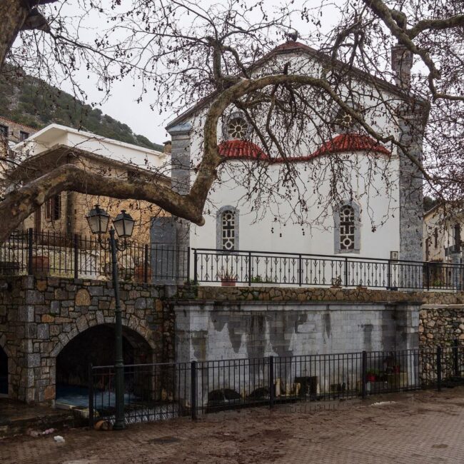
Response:
MULTIPOLYGON (((365 185, 368 172, 368 159, 365 153, 350 153, 350 159, 358 165, 359 173, 352 172, 351 186, 354 201, 360 206, 360 253, 358 256, 370 258, 390 258, 390 251, 398 251, 400 244, 398 186, 393 183, 389 191, 385 191, 385 181, 380 173, 374 173, 370 184, 365 185), (375 192, 374 186, 379 188, 375 192), (376 226, 373 231, 373 226, 376 226)), ((306 223, 298 224, 293 216, 291 200, 278 204, 271 200, 263 211, 252 211, 261 193, 255 193, 251 199, 246 198, 248 189, 244 185, 243 162, 228 161, 226 169, 222 170, 221 183, 217 183, 208 199, 209 213, 202 227, 192 226, 191 247, 216 248, 216 211, 223 206, 233 206, 240 212, 239 218, 239 249, 246 251, 275 251, 291 253, 328 254, 334 250, 334 220, 333 213, 328 211, 326 217, 323 208, 311 203, 313 191, 309 178, 312 163, 324 163, 328 160, 305 161, 297 164, 301 173, 301 188, 306 186, 306 198, 310 205, 306 223), (306 166, 305 166, 306 165, 306 166), (278 221, 275 219, 278 218, 278 221), (317 222, 321 222, 317 224, 317 222)), ((398 159, 384 158, 382 163, 388 166, 392 178, 398 176, 398 159)), ((280 166, 271 165, 268 175, 278 183, 280 166)), ((272 182, 272 181, 271 181, 272 182)), ((331 188, 331 179, 327 178, 319 187, 321 193, 331 188)), ((346 198, 347 200, 349 198, 346 198)), ((347 256, 353 256, 348 253, 347 256)))

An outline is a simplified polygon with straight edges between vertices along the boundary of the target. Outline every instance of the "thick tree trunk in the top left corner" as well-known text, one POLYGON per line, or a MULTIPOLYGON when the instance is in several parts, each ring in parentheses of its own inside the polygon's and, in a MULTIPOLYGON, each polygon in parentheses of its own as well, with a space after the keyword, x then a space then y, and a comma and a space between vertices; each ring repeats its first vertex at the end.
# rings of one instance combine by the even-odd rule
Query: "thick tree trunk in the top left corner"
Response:
POLYGON ((25 6, 24 1, 0 1, 0 69, 27 16, 29 8, 25 6))

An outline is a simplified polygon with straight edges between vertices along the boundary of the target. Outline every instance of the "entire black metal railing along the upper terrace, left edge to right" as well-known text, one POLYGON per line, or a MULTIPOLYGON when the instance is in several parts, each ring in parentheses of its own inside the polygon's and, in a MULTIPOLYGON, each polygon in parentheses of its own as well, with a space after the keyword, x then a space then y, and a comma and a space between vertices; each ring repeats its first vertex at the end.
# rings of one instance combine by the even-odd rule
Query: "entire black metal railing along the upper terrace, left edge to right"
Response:
MULTIPOLYGON (((107 248, 107 247, 106 247, 107 248)), ((236 285, 462 290, 464 266, 453 263, 268 251, 178 249, 129 241, 118 252, 123 281, 236 285)), ((110 278, 111 256, 96 238, 13 234, 0 245, 0 274, 110 278)))

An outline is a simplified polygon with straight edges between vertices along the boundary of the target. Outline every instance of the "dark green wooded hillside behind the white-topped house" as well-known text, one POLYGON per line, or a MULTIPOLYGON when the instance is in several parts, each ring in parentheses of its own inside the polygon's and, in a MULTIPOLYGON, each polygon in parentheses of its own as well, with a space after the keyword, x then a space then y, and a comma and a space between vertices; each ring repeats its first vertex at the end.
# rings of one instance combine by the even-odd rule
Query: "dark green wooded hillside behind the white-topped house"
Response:
POLYGON ((42 128, 50 123, 79 128, 99 136, 163 151, 163 146, 137 135, 120 121, 92 109, 39 79, 17 75, 0 78, 0 116, 42 128))

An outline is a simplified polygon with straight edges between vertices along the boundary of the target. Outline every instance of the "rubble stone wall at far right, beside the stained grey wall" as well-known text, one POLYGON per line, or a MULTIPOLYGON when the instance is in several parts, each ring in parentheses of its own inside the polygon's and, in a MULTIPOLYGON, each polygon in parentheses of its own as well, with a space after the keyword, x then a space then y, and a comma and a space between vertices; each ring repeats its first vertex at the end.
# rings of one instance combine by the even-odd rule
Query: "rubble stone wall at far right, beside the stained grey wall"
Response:
POLYGON ((419 313, 420 348, 464 344, 464 304, 428 304, 419 313))

